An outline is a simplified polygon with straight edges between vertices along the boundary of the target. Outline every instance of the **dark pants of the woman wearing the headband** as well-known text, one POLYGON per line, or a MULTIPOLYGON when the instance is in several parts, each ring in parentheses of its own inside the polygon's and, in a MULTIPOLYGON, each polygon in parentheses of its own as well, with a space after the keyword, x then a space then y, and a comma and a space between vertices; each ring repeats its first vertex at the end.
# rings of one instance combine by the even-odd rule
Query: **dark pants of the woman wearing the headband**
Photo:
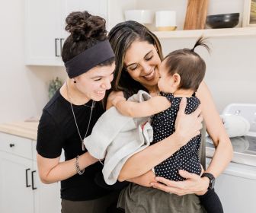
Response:
POLYGON ((119 193, 115 192, 100 199, 87 201, 69 201, 62 199, 62 213, 119 213, 117 199, 119 193))

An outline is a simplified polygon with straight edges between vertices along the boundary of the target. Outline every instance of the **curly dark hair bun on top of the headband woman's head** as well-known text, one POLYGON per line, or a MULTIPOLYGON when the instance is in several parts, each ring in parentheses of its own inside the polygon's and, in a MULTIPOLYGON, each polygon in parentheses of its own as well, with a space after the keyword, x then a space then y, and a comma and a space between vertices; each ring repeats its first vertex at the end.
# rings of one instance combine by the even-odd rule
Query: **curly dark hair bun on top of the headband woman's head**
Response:
POLYGON ((94 16, 88 11, 75 11, 66 17, 66 30, 71 33, 75 42, 94 38, 95 40, 106 40, 107 30, 104 18, 94 16))

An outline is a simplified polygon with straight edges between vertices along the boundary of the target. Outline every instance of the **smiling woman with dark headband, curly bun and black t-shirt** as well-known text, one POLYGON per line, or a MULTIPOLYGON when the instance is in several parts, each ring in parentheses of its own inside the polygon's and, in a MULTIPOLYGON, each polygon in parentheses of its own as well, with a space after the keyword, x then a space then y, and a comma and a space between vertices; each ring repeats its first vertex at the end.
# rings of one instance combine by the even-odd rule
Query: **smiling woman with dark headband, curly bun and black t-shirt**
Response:
MULTIPOLYGON (((70 35, 62 49, 68 78, 43 108, 37 135, 37 165, 43 183, 61 181, 62 213, 107 212, 118 192, 98 186, 101 162, 83 145, 104 113, 101 100, 115 68, 105 20, 84 12, 66 18, 70 35), (65 161, 59 162, 62 149, 65 161)), ((109 210, 115 212, 115 210, 109 210)))

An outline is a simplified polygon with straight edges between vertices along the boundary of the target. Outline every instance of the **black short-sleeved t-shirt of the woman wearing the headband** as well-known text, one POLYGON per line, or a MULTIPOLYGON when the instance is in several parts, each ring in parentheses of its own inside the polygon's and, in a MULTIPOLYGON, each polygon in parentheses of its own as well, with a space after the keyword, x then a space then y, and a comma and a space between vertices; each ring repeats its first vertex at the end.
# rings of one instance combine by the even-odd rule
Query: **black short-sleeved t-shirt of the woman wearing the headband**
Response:
MULTIPOLYGON (((91 106, 90 100, 86 105, 91 106)), ((91 108, 88 106, 72 105, 75 119, 82 138, 88 127, 91 108)), ((97 102, 91 114, 91 123, 87 135, 98 118, 104 113, 100 102, 97 102)), ((77 155, 85 153, 82 151, 82 142, 75 126, 70 103, 64 99, 59 91, 43 108, 37 132, 37 152, 46 158, 56 158, 61 154, 62 148, 65 151, 65 160, 68 161, 77 155)), ((75 165, 74 165, 75 167, 75 165)), ((61 181, 61 198, 79 201, 98 199, 107 195, 109 189, 104 189, 94 182, 94 177, 102 170, 100 162, 85 168, 83 175, 75 174, 67 180, 61 181)))

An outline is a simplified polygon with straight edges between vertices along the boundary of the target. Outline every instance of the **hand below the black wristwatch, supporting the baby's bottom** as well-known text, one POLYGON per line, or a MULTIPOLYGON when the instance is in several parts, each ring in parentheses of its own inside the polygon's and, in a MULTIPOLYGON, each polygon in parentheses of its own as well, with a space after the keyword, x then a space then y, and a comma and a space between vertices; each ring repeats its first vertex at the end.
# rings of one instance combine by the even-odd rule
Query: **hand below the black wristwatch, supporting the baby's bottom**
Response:
POLYGON ((184 196, 187 194, 196 194, 197 196, 201 196, 207 192, 210 181, 207 177, 201 178, 199 175, 189 173, 185 170, 179 170, 179 174, 187 180, 174 181, 157 176, 155 180, 160 183, 151 183, 151 185, 156 189, 169 193, 171 192, 178 196, 184 196))

